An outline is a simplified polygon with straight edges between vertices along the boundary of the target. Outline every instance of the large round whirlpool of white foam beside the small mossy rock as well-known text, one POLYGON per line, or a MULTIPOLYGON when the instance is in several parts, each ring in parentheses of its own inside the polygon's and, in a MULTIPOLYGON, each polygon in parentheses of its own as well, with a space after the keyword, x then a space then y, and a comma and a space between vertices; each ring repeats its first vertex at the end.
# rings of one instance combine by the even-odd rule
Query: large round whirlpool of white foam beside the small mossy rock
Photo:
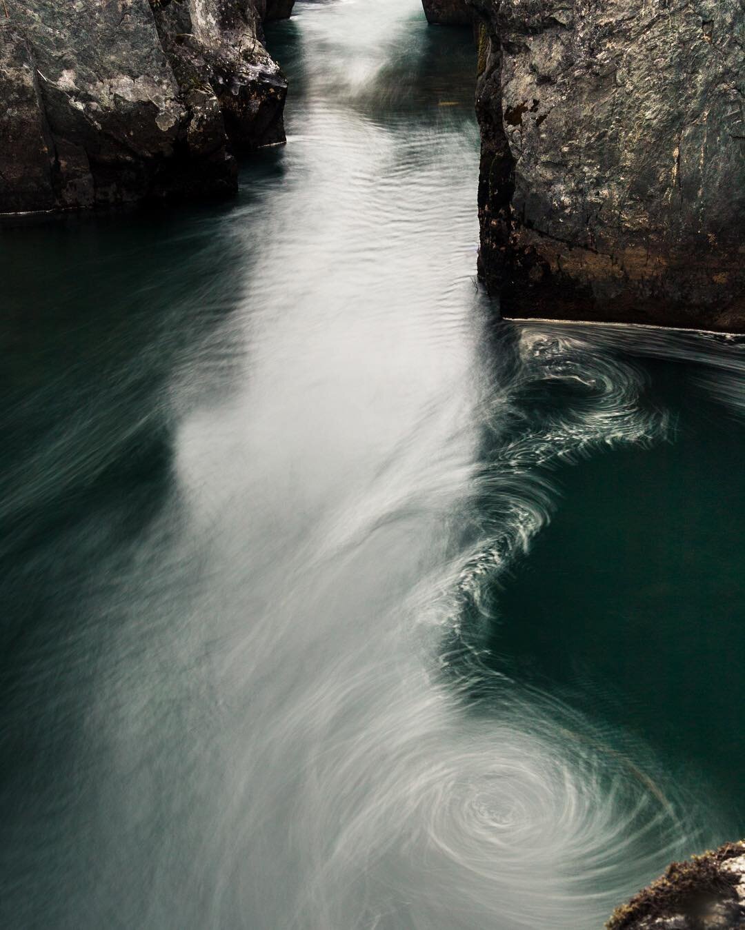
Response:
POLYGON ((478 719, 411 684, 406 719, 394 701, 313 764, 296 826, 334 841, 293 926, 597 927, 698 839, 579 719, 535 696, 478 719))

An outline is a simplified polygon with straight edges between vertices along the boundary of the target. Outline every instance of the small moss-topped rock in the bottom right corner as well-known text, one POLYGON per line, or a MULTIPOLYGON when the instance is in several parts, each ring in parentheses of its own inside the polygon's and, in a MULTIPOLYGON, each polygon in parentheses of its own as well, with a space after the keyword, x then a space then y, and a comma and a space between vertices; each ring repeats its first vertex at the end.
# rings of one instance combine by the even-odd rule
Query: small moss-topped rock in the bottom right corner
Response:
POLYGON ((673 862, 621 905, 607 930, 740 930, 745 927, 745 843, 673 862))

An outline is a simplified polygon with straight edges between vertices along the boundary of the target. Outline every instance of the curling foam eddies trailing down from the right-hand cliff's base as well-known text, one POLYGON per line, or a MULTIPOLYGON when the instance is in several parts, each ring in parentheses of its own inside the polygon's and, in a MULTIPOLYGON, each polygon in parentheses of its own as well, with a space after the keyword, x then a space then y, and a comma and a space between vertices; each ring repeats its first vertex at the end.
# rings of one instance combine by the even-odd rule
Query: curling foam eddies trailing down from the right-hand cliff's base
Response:
MULTIPOLYGON (((493 616, 485 581, 493 583, 514 558, 525 555, 551 519, 552 468, 603 447, 650 445, 671 427, 665 411, 642 408, 642 371, 590 339, 533 327, 506 330, 505 337, 505 383, 485 411, 490 443, 475 479, 475 497, 486 506, 478 508, 476 541, 458 582, 460 598, 485 618, 493 616), (571 392, 570 403, 547 404, 562 390, 571 392)), ((458 627, 461 614, 459 604, 449 622, 458 627)))

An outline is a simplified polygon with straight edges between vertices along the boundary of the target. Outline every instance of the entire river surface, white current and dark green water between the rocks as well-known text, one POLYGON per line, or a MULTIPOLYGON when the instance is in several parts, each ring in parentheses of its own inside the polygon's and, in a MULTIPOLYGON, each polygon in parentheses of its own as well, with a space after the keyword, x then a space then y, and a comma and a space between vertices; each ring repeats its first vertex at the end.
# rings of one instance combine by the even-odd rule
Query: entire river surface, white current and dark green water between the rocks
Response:
POLYGON ((469 30, 268 42, 237 201, 0 233, 0 924, 598 928, 745 832, 745 343, 499 321, 469 30))

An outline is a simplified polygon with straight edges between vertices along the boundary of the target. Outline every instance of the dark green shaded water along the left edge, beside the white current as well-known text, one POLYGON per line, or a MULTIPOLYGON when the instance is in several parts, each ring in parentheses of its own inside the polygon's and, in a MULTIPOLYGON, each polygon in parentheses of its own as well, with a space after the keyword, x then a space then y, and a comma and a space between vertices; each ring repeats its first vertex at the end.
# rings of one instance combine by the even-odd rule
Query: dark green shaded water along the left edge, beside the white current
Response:
POLYGON ((190 391, 177 402, 172 387, 197 370, 204 403, 230 382, 220 344, 246 269, 225 231, 232 210, 62 219, 3 235, 6 926, 37 925, 37 910, 46 925, 67 925, 65 899, 85 883, 58 885, 56 847, 72 844, 79 874, 95 872, 89 727, 101 658, 121 634, 116 610, 96 604, 138 563, 162 562, 178 535, 174 447, 190 391))

